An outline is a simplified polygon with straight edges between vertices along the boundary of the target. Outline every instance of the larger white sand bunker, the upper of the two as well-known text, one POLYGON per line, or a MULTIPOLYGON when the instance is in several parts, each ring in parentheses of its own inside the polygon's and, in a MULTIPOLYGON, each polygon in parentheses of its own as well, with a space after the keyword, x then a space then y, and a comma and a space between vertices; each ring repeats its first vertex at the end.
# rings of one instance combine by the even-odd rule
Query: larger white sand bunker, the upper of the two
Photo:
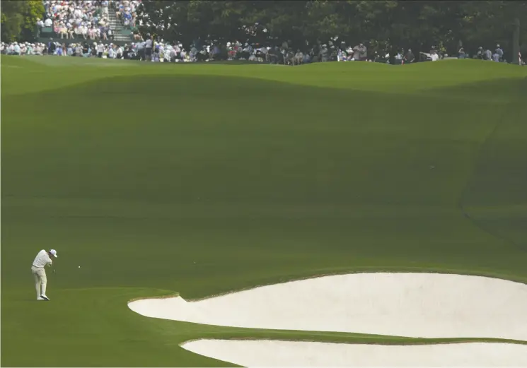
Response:
POLYGON ((129 308, 144 316, 219 326, 527 340, 527 285, 478 276, 334 275, 198 302, 142 299, 129 308))

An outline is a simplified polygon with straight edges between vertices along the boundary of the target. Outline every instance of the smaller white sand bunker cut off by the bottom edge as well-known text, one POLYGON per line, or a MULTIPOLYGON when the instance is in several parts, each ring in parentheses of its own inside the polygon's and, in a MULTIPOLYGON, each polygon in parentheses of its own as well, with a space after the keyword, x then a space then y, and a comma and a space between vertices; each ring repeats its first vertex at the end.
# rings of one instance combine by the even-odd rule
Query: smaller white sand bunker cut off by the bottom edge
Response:
POLYGON ((527 367, 527 345, 358 345, 197 340, 183 348, 243 367, 527 367))

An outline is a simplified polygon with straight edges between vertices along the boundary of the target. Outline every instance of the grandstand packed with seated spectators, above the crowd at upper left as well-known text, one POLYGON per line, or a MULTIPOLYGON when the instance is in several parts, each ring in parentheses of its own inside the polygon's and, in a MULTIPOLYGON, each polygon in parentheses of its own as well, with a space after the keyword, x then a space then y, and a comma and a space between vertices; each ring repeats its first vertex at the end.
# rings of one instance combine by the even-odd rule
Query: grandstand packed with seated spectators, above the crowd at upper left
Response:
POLYGON ((132 42, 135 9, 141 1, 44 0, 45 18, 37 23, 39 42, 97 40, 108 44, 132 42))

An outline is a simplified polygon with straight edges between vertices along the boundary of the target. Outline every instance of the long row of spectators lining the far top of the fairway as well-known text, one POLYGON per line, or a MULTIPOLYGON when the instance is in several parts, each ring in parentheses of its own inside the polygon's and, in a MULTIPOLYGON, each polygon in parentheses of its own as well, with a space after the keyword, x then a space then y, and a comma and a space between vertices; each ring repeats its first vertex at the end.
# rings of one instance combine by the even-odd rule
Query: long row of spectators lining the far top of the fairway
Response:
MULTIPOLYGON (((268 64, 299 65, 313 62, 324 61, 376 61, 388 64, 408 64, 416 61, 412 49, 400 49, 397 52, 387 53, 386 55, 373 52, 369 57, 364 44, 357 44, 354 47, 347 47, 345 44, 336 46, 335 44, 315 44, 306 52, 301 49, 289 47, 287 42, 283 42, 280 47, 263 47, 259 44, 242 43, 240 41, 227 42, 226 47, 219 43, 212 43, 198 47, 192 44, 184 47, 180 42, 165 42, 164 40, 154 40, 153 37, 146 37, 146 40, 130 42, 122 46, 113 43, 103 43, 101 40, 92 42, 69 43, 63 40, 50 40, 47 44, 13 42, 11 44, 1 44, 2 54, 13 55, 56 55, 64 57, 98 57, 103 59, 130 59, 151 62, 196 62, 196 61, 233 61, 245 60, 268 64)), ((460 50, 460 55, 461 54, 460 50)), ((434 47, 429 53, 419 52, 418 61, 437 61, 448 57, 441 54, 434 47)), ((460 59, 464 57, 458 56, 460 59)), ((478 52, 475 57, 478 59, 504 61, 502 49, 498 49, 488 59, 488 52, 478 52), (499 56, 501 51, 501 57, 499 56), (480 57, 480 55, 482 55, 480 57)), ((520 64, 525 62, 520 57, 520 64)))

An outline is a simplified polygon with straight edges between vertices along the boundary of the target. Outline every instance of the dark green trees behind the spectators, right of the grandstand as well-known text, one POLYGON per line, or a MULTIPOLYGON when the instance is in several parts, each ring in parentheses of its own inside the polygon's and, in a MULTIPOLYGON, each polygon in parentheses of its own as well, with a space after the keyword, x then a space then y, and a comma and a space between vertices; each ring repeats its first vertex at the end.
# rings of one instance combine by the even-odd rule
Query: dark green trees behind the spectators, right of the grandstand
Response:
POLYGON ((511 59, 521 40, 527 46, 527 1, 143 0, 138 17, 141 33, 183 44, 285 41, 306 49, 338 37, 370 50, 435 46, 448 54, 500 44, 511 59))

